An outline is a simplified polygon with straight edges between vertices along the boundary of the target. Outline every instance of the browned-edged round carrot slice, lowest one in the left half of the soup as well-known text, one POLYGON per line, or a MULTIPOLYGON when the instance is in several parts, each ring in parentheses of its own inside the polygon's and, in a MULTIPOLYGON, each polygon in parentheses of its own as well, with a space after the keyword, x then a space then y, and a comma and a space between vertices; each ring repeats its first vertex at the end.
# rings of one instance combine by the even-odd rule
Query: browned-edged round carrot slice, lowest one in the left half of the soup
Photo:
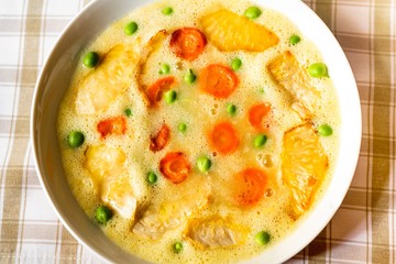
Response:
POLYGON ((190 170, 187 156, 182 152, 169 152, 160 162, 161 173, 174 184, 183 183, 190 170))

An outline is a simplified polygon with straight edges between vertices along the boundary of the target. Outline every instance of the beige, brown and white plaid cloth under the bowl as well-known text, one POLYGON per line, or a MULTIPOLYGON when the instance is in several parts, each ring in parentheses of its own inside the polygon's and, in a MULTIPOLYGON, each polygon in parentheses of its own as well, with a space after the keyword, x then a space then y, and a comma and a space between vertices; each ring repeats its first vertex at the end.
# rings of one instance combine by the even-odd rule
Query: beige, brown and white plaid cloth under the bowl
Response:
MULTIPOLYGON (((89 0, 0 1, 0 263, 100 263, 61 224, 29 142, 34 82, 89 0)), ((288 263, 396 263, 396 0, 306 0, 341 43, 358 80, 363 141, 334 218, 288 263)))

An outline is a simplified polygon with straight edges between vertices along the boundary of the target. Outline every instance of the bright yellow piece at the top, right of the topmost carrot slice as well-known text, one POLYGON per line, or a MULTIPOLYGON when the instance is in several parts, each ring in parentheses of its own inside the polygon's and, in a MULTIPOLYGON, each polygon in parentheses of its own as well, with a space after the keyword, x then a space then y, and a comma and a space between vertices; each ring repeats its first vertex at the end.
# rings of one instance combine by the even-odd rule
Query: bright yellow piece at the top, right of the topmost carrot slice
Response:
POLYGON ((209 42, 221 52, 264 52, 279 42, 265 26, 229 10, 204 16, 201 24, 209 42))

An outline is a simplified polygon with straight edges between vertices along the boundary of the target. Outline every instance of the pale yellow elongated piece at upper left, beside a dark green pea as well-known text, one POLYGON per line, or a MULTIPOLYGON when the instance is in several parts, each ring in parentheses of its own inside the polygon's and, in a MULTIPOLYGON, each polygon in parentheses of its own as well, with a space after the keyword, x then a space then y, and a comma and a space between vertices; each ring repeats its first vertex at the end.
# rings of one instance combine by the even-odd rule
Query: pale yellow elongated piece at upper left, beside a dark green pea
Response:
POLYGON ((107 110, 130 86, 138 62, 139 54, 131 45, 112 47, 79 85, 76 112, 94 114, 107 110))

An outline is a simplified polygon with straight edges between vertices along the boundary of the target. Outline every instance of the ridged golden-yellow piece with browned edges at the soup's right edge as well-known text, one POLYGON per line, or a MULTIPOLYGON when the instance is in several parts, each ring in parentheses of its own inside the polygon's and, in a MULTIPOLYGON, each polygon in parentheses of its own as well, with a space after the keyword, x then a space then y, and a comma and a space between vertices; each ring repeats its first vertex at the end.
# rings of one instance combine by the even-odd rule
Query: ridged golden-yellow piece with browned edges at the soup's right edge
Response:
POLYGON ((283 139, 282 179, 290 189, 290 217, 298 219, 309 209, 324 179, 328 156, 312 124, 305 123, 287 131, 283 139))

